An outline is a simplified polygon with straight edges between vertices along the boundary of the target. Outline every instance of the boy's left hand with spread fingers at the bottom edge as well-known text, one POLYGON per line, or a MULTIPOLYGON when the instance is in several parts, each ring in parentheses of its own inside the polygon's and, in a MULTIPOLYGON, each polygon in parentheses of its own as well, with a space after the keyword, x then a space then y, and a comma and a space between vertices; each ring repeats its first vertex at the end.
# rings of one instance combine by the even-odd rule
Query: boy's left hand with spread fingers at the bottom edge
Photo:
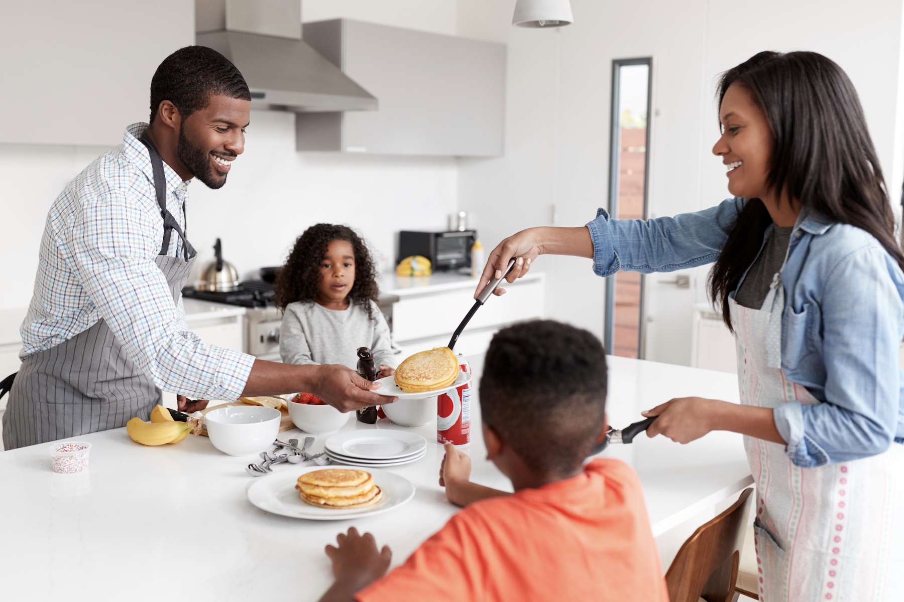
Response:
POLYGON ((326 546, 326 555, 333 560, 335 583, 320 598, 322 602, 352 600, 355 592, 380 579, 390 568, 392 552, 387 545, 377 550, 377 542, 371 533, 358 534, 352 527, 348 534, 336 536, 338 547, 326 546))

